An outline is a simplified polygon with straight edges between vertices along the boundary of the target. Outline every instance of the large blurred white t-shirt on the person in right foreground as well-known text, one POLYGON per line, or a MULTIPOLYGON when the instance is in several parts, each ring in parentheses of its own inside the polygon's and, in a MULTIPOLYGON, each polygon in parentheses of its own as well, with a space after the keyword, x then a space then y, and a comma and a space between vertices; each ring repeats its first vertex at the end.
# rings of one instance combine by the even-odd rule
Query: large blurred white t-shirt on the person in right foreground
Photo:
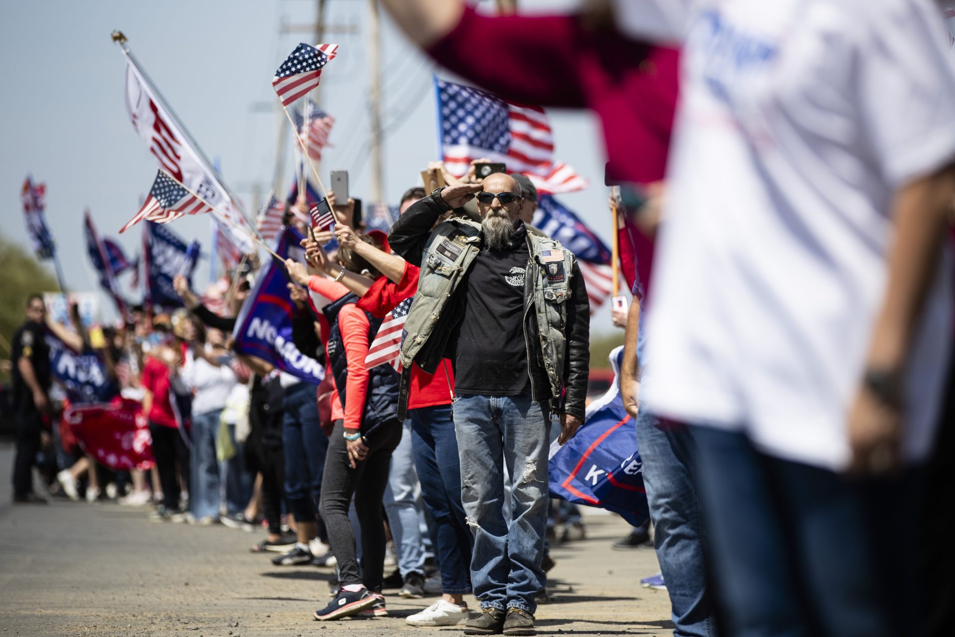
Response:
MULTIPOLYGON (((891 197, 955 158, 940 11, 922 0, 703 0, 688 15, 641 399, 838 470, 884 292, 891 197)), ((667 39, 671 12, 658 22, 667 39)), ((938 414, 948 274, 945 261, 908 363, 911 460, 929 452, 938 414)))

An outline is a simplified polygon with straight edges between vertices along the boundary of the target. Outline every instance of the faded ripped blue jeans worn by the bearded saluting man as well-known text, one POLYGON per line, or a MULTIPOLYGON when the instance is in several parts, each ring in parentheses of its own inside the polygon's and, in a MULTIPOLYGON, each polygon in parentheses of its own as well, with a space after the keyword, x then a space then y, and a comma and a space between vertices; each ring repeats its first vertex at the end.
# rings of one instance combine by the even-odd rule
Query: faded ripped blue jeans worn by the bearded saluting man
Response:
POLYGON ((546 579, 547 423, 529 393, 459 395, 454 404, 461 501, 475 537, 471 582, 481 609, 533 613, 546 579), (504 519, 502 465, 511 476, 511 520, 504 519))

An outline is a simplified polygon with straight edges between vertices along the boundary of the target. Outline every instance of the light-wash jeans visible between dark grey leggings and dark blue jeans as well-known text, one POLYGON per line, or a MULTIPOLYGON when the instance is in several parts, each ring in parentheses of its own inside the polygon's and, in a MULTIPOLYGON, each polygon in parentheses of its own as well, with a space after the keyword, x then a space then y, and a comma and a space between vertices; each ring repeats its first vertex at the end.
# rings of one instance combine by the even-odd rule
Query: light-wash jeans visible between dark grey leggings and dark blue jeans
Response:
POLYGON ((412 424, 406 419, 402 423, 401 442, 392 452, 385 488, 385 513, 392 528, 401 577, 409 573, 424 575, 424 537, 420 524, 424 513, 416 498, 418 478, 414 472, 411 434, 412 424))

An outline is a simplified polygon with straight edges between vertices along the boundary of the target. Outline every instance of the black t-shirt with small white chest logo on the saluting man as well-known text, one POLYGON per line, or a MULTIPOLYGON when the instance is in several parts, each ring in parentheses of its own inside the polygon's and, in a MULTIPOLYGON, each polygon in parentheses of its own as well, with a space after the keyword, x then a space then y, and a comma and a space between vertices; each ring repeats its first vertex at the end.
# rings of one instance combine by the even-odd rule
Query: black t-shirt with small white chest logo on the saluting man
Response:
POLYGON ((520 223, 513 247, 482 249, 461 282, 465 307, 456 334, 456 393, 530 392, 523 329, 526 238, 520 223))

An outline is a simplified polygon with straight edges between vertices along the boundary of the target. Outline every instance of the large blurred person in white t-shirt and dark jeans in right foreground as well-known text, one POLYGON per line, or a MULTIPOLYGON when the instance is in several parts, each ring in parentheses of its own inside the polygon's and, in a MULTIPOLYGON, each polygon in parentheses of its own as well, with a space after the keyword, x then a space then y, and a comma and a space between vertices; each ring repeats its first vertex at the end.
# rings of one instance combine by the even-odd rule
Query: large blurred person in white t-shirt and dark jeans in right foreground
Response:
POLYGON ((640 399, 693 430, 730 633, 920 634, 910 476, 950 350, 955 197, 939 8, 647 0, 617 18, 683 42, 640 399))

